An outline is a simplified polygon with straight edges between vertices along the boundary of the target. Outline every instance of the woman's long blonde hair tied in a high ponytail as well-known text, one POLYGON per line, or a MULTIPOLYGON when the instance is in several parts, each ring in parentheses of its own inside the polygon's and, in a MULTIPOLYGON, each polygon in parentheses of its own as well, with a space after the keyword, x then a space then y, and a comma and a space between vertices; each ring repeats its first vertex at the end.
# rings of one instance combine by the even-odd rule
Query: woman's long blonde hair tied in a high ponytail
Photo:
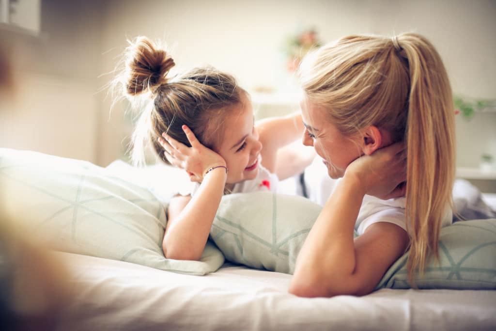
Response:
POLYGON ((349 36, 304 60, 304 92, 328 109, 344 135, 368 126, 407 146, 408 275, 438 257, 440 224, 452 206, 455 129, 451 87, 434 46, 423 36, 349 36))

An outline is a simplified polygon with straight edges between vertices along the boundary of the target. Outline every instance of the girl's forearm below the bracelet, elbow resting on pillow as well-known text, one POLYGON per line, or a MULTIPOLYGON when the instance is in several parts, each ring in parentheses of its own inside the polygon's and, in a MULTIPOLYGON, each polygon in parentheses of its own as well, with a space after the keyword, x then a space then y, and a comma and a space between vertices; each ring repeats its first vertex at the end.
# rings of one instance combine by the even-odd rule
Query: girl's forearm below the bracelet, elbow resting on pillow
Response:
POLYGON ((203 179, 198 191, 168 227, 162 249, 168 259, 199 260, 210 233, 227 174, 217 168, 203 179))

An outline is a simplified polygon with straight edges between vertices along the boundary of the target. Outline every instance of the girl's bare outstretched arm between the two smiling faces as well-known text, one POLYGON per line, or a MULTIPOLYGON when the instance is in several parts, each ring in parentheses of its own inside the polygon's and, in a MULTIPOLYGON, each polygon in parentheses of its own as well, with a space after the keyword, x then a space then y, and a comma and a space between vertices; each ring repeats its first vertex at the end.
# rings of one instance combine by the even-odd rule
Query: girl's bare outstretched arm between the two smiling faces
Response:
POLYGON ((256 129, 263 146, 260 151, 262 165, 276 173, 279 179, 300 173, 310 165, 315 155, 313 148, 288 146, 301 138, 305 129, 301 112, 258 121, 256 129))

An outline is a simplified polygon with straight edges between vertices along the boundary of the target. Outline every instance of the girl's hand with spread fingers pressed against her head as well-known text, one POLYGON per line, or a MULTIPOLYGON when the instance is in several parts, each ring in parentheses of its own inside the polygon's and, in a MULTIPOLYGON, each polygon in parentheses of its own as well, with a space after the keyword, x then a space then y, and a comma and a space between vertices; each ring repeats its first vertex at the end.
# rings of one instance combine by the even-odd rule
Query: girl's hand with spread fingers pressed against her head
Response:
POLYGON ((186 125, 183 126, 183 131, 191 147, 187 147, 165 132, 162 133, 164 138, 158 138, 158 142, 164 148, 167 160, 172 165, 185 169, 191 182, 201 182, 211 167, 226 166, 222 156, 203 146, 186 125))

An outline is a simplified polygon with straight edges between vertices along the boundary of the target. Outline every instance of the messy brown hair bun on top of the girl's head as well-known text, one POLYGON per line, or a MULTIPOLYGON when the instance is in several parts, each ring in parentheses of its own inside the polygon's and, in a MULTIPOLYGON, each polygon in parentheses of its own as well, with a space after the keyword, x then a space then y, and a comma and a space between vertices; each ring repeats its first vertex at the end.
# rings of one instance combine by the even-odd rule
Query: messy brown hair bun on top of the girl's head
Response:
POLYGON ((154 92, 167 84, 167 73, 175 65, 167 52, 146 37, 137 37, 127 48, 125 89, 130 95, 154 92))

